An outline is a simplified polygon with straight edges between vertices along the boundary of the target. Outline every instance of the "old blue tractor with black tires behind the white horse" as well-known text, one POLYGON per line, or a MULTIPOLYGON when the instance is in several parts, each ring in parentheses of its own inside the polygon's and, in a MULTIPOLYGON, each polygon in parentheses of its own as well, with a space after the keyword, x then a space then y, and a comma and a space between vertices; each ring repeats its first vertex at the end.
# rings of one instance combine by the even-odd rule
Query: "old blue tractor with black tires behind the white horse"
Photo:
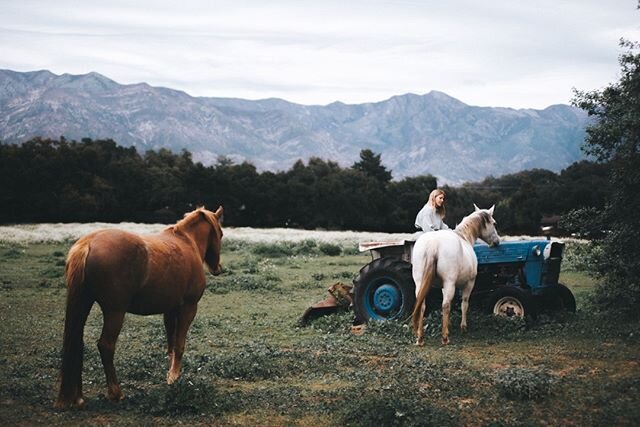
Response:
MULTIPOLYGON (((370 251, 372 261, 353 281, 355 324, 369 320, 404 320, 415 304, 411 276, 411 251, 415 241, 370 242, 360 251, 370 251)), ((471 307, 506 317, 535 318, 540 309, 575 312, 576 301, 558 282, 564 243, 549 240, 503 242, 490 248, 476 244, 478 276, 471 294, 471 307)), ((442 293, 432 288, 427 310, 440 308, 442 293)))

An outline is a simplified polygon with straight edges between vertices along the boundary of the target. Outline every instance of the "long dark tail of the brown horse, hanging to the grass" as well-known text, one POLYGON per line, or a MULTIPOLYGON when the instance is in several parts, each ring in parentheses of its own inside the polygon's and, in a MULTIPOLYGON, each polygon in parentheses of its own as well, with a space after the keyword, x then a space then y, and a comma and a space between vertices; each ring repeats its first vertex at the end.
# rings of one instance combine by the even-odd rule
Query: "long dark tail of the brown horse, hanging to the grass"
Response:
POLYGON ((60 392, 55 407, 83 404, 82 359, 84 325, 94 299, 84 282, 84 270, 89 255, 91 235, 78 240, 69 250, 65 265, 67 280, 67 308, 62 342, 62 367, 60 368, 60 392))

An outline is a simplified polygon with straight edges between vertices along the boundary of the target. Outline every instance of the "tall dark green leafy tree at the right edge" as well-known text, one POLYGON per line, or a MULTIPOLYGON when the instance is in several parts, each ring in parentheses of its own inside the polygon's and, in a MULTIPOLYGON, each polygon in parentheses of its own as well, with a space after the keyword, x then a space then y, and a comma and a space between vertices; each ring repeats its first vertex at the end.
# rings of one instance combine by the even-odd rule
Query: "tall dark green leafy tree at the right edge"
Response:
POLYGON ((603 276, 596 302, 637 318, 640 306, 640 44, 621 40, 620 80, 600 91, 575 91, 574 105, 595 119, 585 151, 608 162, 610 191, 602 211, 608 233, 595 263, 603 276))

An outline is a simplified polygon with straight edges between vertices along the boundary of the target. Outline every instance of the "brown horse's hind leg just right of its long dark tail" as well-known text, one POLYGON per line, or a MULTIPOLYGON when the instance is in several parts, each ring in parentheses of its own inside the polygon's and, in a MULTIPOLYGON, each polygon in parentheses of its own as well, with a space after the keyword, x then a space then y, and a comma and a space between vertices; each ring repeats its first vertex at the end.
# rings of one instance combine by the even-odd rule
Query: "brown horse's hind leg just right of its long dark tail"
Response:
POLYGON ((124 395, 120 390, 116 368, 113 366, 113 354, 116 351, 116 341, 122 324, 124 322, 124 312, 111 312, 103 310, 104 324, 102 325, 102 335, 98 340, 98 350, 104 367, 104 374, 107 377, 107 399, 122 400, 124 395))

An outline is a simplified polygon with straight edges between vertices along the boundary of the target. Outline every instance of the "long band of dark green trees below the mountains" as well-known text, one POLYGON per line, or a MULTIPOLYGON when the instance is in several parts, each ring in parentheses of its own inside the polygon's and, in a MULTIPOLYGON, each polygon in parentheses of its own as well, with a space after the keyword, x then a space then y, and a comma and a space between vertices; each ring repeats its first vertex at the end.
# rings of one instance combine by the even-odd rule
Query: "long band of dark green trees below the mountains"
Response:
MULTIPOLYGON (((0 222, 136 221, 171 223, 197 206, 225 207, 225 224, 413 232, 434 176, 393 180, 369 149, 350 167, 311 158, 280 172, 219 157, 194 162, 188 151, 139 153, 113 140, 34 138, 0 144, 0 222)), ((602 209, 606 165, 581 161, 560 173, 534 169, 447 193, 445 222, 496 205, 501 233, 538 234, 541 220, 576 208, 602 209)))

